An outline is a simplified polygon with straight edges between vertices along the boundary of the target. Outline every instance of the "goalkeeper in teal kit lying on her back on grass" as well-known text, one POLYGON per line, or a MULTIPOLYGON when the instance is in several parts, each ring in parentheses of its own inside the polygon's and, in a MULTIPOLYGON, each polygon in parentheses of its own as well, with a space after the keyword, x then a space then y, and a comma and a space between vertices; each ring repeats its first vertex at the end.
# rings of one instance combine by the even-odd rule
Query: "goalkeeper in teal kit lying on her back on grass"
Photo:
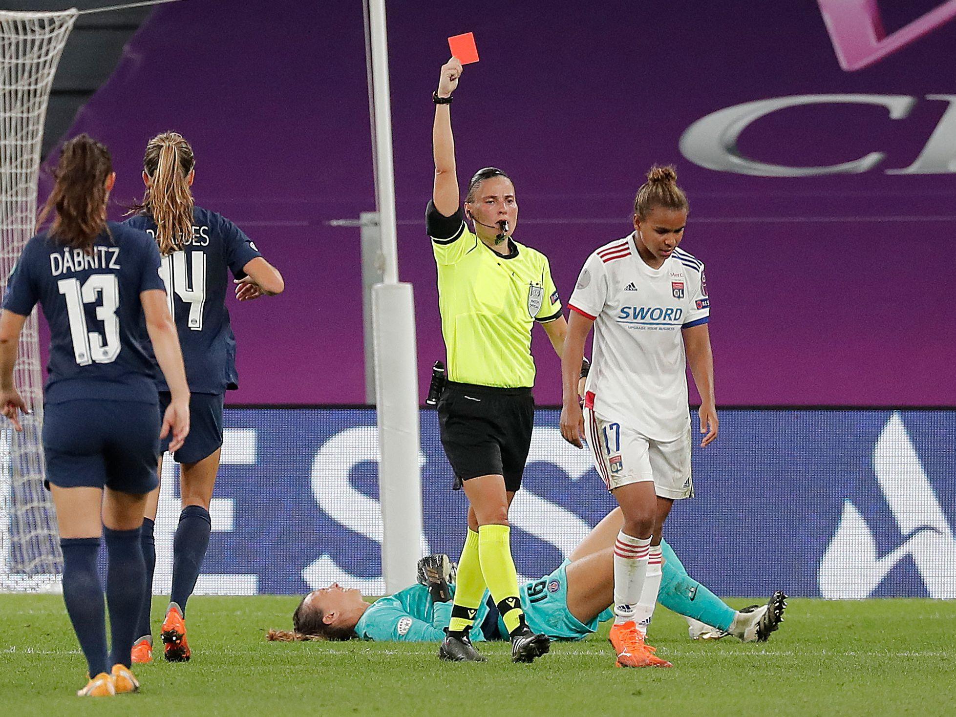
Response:
MULTIPOLYGON (((529 627, 552 640, 581 640, 597 623, 613 617, 614 541, 621 526, 620 509, 612 511, 550 576, 522 585, 521 603, 529 627)), ((782 592, 766 605, 735 611, 704 585, 688 576, 665 542, 663 579, 658 601, 684 615, 692 638, 733 635, 741 641, 766 641, 777 629, 787 606, 782 592), (702 624, 703 623, 703 624, 702 624)), ((445 555, 429 555, 419 563, 419 582, 393 596, 365 602, 358 590, 338 584, 314 590, 293 613, 293 632, 270 630, 277 641, 362 640, 440 642, 451 617, 454 576, 445 555)), ((475 616, 472 641, 507 640, 492 600, 475 616)))

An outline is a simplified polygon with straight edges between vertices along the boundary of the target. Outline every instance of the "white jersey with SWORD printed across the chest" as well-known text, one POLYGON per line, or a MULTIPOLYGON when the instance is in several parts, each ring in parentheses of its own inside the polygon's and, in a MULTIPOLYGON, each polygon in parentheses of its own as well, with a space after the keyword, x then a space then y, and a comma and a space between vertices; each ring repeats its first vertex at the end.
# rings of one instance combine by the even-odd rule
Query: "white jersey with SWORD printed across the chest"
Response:
POLYGON ((675 249, 651 269, 631 234, 588 257, 569 308, 595 322, 586 404, 654 441, 684 436, 690 414, 681 330, 710 314, 704 263, 675 249))

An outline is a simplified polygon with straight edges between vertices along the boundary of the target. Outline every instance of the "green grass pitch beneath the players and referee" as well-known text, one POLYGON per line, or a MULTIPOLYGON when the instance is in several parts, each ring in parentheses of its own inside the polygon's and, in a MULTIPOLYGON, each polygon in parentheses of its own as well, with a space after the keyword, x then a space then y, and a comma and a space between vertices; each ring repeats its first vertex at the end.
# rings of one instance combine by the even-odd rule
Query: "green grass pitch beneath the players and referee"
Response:
MULTIPOLYGON (((295 714, 956 714, 956 602, 792 599, 766 643, 689 641, 659 608, 658 654, 674 667, 614 667, 604 637, 555 644, 531 665, 486 645, 485 664, 440 663, 437 645, 267 642, 294 597, 193 597, 190 663, 136 670, 138 695, 81 700, 85 663, 59 596, 0 595, 0 717, 295 714)), ((732 600, 743 606, 749 600, 732 600)), ((154 600, 158 630, 163 602, 154 600)))

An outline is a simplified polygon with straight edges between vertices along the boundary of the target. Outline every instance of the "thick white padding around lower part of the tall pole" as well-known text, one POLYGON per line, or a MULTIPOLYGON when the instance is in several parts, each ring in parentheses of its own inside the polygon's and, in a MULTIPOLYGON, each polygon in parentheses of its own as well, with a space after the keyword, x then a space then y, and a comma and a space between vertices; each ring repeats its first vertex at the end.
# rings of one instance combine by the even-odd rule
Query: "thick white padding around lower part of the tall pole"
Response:
POLYGON ((392 595, 413 585, 422 556, 418 353, 412 285, 372 288, 379 413, 381 572, 392 595))

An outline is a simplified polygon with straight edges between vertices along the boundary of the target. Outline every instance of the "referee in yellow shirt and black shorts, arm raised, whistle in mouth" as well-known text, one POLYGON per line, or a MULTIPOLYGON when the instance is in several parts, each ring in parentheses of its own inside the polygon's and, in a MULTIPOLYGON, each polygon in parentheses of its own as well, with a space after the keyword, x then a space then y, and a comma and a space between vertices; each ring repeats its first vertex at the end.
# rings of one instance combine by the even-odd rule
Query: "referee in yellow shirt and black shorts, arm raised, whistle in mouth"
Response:
POLYGON ((435 185, 425 215, 447 350, 448 381, 438 402, 442 444, 455 489, 465 489, 470 504, 439 657, 484 661, 468 631, 487 586, 511 635, 511 660, 530 663, 550 641, 532 632, 521 609, 508 509, 532 440, 532 326, 544 326, 558 356, 568 327, 548 259, 511 238, 518 205, 508 175, 481 169, 468 183, 465 206, 459 201, 449 105, 461 74, 452 57, 432 96, 435 185))

